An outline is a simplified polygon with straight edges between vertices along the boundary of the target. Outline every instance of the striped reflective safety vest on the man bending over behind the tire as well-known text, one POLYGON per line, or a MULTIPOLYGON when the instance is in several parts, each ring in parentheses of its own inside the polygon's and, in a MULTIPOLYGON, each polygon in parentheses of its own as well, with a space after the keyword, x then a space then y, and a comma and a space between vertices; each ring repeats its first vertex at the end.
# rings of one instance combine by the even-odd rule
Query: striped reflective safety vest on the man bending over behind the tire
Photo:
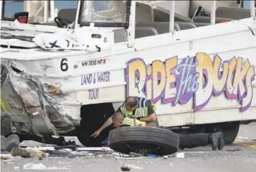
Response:
MULTIPOLYGON (((146 98, 137 98, 137 108, 135 110, 135 117, 147 117, 147 102, 150 101, 149 99, 146 98)), ((153 107, 153 110, 155 111, 156 107, 155 105, 153 105, 153 102, 150 101, 150 104, 153 107)), ((123 103, 122 107, 121 107, 121 111, 123 114, 125 114, 125 116, 129 116, 132 115, 132 111, 128 111, 125 108, 125 103, 123 103)))

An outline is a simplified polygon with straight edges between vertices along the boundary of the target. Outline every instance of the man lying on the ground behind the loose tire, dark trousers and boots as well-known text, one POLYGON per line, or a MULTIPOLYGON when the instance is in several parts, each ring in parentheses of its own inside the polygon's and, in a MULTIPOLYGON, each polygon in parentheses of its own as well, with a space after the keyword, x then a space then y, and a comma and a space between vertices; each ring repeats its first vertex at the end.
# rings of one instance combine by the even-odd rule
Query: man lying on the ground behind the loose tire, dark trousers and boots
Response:
MULTIPOLYGON (((150 127, 146 122, 141 120, 136 120, 136 125, 141 127, 150 127)), ((116 112, 112 116, 113 125, 115 127, 134 127, 134 119, 125 117, 122 112, 116 112)), ((161 127, 163 129, 169 130, 168 128, 161 127)), ((199 146, 212 145, 212 149, 223 149, 225 142, 223 139, 223 133, 196 133, 183 135, 179 134, 179 147, 180 149, 191 149, 199 146)))

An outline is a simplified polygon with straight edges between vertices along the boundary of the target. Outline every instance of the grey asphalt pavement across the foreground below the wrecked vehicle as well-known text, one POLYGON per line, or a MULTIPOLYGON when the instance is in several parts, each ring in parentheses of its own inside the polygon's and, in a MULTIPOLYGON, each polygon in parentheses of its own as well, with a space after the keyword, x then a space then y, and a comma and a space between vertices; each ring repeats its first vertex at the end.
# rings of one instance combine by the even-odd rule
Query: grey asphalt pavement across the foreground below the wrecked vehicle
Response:
POLYGON ((7 171, 122 171, 122 165, 130 171, 148 172, 254 172, 256 171, 256 123, 241 125, 238 139, 222 151, 212 151, 210 146, 185 149, 179 156, 164 158, 115 159, 114 155, 80 158, 14 158, 1 162, 1 170, 7 171), (180 156, 182 155, 182 156, 180 156), (184 157, 183 157, 184 155, 184 157), (179 158, 178 158, 179 157, 179 158), (31 164, 32 163, 32 164, 31 164), (30 169, 30 170, 29 170, 30 169), (32 170, 31 170, 32 169, 32 170))

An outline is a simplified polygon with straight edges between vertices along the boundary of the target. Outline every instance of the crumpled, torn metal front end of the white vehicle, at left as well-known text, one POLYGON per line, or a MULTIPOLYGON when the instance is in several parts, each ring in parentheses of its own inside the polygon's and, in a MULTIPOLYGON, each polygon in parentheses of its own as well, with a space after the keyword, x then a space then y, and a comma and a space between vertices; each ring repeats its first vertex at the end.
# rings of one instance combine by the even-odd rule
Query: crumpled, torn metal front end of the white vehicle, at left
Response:
POLYGON ((38 136, 42 136, 42 133, 58 135, 68 133, 80 124, 80 106, 61 105, 65 95, 58 87, 42 83, 40 78, 32 77, 28 73, 16 73, 4 64, 2 68, 11 70, 8 75, 2 73, 2 92, 8 90, 2 94, 2 100, 16 124, 17 133, 23 130, 38 136), (14 97, 20 99, 13 99, 14 97), (23 120, 20 120, 21 117, 24 117, 23 120), (23 129, 24 124, 24 127, 29 127, 27 130, 23 129))

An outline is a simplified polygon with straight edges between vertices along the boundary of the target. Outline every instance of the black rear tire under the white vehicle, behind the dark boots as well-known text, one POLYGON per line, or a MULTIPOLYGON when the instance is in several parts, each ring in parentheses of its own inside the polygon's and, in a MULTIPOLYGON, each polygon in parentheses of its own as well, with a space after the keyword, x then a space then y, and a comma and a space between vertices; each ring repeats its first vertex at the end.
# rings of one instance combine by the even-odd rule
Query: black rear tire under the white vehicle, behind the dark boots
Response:
POLYGON ((235 121, 226 125, 220 125, 216 127, 216 132, 223 133, 223 139, 225 140, 225 145, 231 145, 235 141, 237 134, 239 133, 240 121, 235 121))

